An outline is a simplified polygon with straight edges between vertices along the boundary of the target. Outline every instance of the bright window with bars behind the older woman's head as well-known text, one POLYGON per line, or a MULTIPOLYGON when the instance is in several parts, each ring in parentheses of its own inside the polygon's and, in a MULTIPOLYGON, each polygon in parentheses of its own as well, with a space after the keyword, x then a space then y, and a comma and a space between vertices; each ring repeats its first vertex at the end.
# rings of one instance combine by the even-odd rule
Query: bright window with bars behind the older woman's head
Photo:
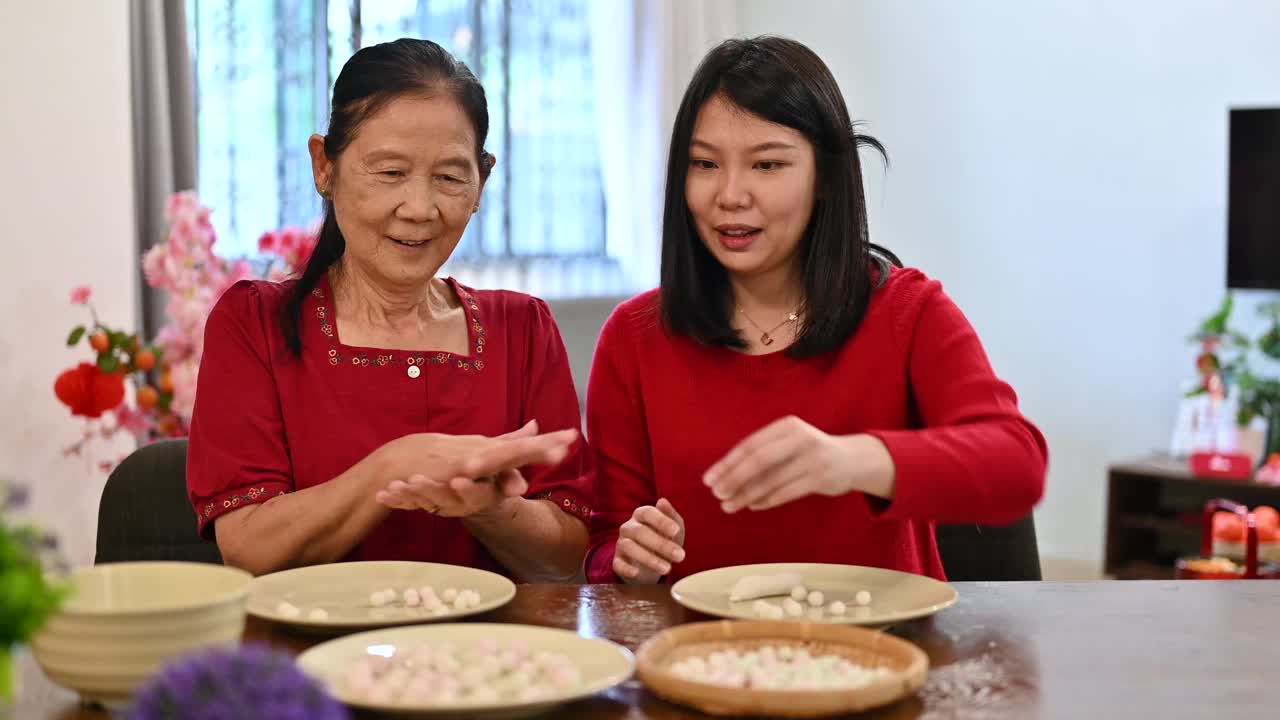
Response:
POLYGON ((306 141, 324 132, 333 81, 356 49, 411 36, 466 61, 489 97, 498 167, 454 258, 609 264, 593 0, 187 1, 200 195, 223 252, 253 255, 264 231, 315 222, 306 141))

